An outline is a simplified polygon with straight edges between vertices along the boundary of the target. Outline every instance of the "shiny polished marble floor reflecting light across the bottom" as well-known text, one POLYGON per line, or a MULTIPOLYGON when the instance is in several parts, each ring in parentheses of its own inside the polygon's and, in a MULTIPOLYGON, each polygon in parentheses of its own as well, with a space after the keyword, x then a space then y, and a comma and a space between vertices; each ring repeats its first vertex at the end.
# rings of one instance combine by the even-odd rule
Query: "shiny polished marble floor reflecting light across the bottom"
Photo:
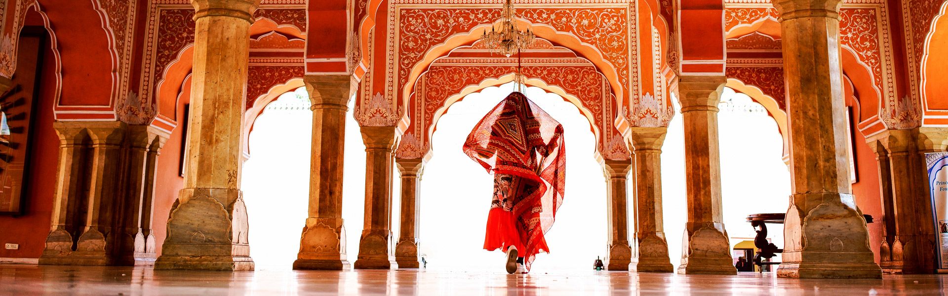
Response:
POLYGON ((167 271, 0 265, 0 295, 944 295, 948 275, 793 280, 618 271, 167 271))

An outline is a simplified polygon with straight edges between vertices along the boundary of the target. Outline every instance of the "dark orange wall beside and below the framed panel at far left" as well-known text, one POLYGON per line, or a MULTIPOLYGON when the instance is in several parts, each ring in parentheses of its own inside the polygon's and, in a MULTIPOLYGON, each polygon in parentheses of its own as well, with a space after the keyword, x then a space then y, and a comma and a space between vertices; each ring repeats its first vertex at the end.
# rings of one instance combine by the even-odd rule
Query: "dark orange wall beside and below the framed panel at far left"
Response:
MULTIPOLYGON (((25 49, 24 41, 20 49, 25 49)), ((39 258, 46 243, 46 234, 49 233, 50 215, 53 205, 53 191, 56 183, 56 163, 59 159, 59 137, 53 129, 53 101, 55 96, 55 65, 53 52, 46 44, 44 63, 40 65, 39 98, 33 119, 33 141, 30 145, 30 172, 27 176, 26 214, 22 216, 0 215, 0 243, 20 244, 20 250, 0 249, 0 257, 8 258, 39 258)), ((37 50, 37 53, 39 51, 37 50)), ((28 50, 21 50, 19 55, 29 55, 28 50)), ((36 54, 32 54, 33 57, 36 54)), ((26 58, 26 57, 24 57, 26 58)), ((34 58, 35 59, 35 58, 34 58)), ((23 61, 23 60, 21 60, 23 61)), ((35 68, 21 64, 17 69, 16 78, 33 77, 35 68)), ((14 82, 17 79, 14 78, 14 82)))

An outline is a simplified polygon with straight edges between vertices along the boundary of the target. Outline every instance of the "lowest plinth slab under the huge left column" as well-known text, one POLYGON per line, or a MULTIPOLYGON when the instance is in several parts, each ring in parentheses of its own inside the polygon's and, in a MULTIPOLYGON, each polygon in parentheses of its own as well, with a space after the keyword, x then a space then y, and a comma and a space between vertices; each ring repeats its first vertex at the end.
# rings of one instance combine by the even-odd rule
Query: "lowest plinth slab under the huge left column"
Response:
POLYGON ((253 270, 248 256, 172 256, 162 255, 155 261, 155 270, 253 270))

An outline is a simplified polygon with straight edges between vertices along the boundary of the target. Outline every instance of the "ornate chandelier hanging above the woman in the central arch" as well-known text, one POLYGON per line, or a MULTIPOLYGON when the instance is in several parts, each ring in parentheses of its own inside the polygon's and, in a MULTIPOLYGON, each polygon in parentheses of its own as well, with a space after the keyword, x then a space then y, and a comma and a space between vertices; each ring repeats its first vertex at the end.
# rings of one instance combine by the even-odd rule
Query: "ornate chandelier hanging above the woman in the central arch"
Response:
POLYGON ((514 17, 517 16, 517 11, 510 1, 511 0, 507 0, 507 3, 503 5, 501 28, 498 30, 491 25, 490 32, 484 28, 483 35, 481 35, 481 41, 484 43, 484 46, 490 48, 491 52, 500 53, 508 58, 520 49, 533 44, 534 39, 537 38, 537 36, 530 31, 530 28, 527 28, 526 31, 520 31, 520 29, 517 28, 517 22, 514 21, 514 17))

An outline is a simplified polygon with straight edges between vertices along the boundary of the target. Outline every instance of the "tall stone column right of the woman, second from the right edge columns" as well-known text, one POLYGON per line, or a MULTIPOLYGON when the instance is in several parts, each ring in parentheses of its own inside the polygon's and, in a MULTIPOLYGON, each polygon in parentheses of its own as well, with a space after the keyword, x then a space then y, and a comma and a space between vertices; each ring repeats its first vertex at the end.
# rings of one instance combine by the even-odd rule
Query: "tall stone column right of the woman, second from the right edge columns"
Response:
POLYGON ((688 193, 680 273, 738 272, 731 265, 731 243, 721 215, 718 102, 726 82, 723 76, 683 76, 678 82, 688 193))

